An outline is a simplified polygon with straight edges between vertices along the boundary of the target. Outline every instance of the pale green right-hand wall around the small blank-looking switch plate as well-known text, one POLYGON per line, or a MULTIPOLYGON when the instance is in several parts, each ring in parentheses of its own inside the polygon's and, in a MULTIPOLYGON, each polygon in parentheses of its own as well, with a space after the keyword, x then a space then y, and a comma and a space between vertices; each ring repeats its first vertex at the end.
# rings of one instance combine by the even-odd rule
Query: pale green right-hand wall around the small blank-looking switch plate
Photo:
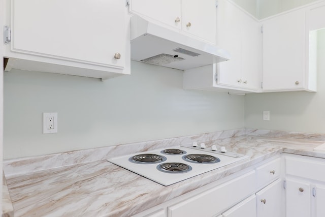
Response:
POLYGON ((325 29, 318 31, 317 53, 317 92, 246 95, 247 128, 325 133, 325 29), (270 121, 263 121, 264 110, 270 111, 270 121))

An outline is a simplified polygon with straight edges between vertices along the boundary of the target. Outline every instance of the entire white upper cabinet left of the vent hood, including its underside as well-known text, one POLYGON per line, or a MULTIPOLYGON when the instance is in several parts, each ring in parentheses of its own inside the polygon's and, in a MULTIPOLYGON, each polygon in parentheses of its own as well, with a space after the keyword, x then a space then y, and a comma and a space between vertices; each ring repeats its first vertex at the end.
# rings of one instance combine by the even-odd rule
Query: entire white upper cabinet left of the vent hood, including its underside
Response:
POLYGON ((9 68, 109 78, 129 74, 124 1, 7 0, 9 68))

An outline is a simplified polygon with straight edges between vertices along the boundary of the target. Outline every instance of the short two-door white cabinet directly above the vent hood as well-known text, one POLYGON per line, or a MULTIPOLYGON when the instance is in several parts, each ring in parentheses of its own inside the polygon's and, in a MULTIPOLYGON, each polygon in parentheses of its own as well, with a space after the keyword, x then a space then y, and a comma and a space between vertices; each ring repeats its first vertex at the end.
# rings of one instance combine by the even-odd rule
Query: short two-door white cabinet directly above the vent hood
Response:
POLYGON ((130 12, 216 44, 215 0, 130 0, 130 12))

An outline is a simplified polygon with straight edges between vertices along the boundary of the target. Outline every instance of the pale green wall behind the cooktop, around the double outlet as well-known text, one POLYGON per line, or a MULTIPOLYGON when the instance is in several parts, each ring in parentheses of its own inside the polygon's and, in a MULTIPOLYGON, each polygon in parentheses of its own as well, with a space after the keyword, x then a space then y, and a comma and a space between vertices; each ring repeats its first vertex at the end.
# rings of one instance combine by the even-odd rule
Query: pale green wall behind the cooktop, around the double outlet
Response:
POLYGON ((182 73, 135 61, 104 82, 6 72, 5 159, 244 127, 243 96, 183 90, 182 73), (42 112, 58 112, 57 134, 42 134, 42 112))

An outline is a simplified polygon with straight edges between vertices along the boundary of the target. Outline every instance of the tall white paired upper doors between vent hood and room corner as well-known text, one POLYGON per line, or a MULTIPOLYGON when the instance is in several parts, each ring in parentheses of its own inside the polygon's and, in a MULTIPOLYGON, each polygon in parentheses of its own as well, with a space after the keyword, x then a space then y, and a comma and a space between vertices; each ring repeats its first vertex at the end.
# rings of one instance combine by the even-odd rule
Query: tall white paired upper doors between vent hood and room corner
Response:
POLYGON ((258 21, 227 0, 218 1, 220 47, 231 59, 219 63, 218 83, 250 91, 261 89, 262 33, 258 21))

